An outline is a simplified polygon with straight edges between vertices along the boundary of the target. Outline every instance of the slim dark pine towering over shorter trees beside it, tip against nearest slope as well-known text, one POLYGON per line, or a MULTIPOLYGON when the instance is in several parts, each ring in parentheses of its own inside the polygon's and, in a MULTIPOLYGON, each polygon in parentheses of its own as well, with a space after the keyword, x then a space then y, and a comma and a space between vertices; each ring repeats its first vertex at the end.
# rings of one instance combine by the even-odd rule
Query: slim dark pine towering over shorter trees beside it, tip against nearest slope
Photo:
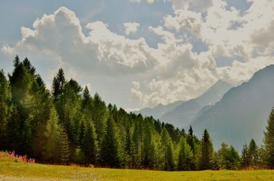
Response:
POLYGON ((203 139, 201 143, 201 163, 200 169, 211 169, 212 168, 212 156, 213 156, 213 145, 208 134, 208 130, 203 131, 203 139))

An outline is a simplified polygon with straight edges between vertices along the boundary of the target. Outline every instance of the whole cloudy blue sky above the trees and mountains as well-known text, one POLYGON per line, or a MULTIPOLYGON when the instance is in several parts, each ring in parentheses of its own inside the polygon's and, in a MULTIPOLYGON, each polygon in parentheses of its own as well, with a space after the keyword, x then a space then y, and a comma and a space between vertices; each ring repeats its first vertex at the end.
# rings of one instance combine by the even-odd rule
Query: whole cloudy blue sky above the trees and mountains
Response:
POLYGON ((237 85, 273 64, 274 1, 0 0, 0 68, 28 57, 135 110, 237 85))

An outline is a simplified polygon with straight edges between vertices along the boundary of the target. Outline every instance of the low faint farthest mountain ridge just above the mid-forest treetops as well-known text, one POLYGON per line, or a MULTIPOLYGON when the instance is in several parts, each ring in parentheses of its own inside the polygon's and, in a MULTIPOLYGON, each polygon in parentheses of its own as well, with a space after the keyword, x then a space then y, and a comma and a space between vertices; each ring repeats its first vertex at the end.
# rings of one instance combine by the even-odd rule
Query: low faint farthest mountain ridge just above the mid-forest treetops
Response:
POLYGON ((185 102, 184 100, 178 100, 169 105, 159 104, 153 108, 147 107, 144 109, 140 109, 139 111, 134 111, 134 113, 136 114, 140 113, 146 116, 152 115, 155 119, 159 119, 160 117, 162 117, 162 115, 164 115, 165 113, 168 113, 169 111, 173 111, 178 105, 181 105, 184 102, 185 102))

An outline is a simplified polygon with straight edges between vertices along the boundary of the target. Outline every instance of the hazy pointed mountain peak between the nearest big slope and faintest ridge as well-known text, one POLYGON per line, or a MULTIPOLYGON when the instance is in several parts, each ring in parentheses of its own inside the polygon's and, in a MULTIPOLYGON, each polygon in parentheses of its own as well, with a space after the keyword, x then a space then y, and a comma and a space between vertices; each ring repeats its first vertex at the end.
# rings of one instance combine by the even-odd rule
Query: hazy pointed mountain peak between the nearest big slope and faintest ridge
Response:
POLYGON ((232 85, 229 83, 219 80, 204 94, 178 105, 173 111, 162 115, 160 120, 169 122, 179 128, 187 126, 197 116, 199 111, 203 110, 203 107, 214 105, 231 87, 232 85))

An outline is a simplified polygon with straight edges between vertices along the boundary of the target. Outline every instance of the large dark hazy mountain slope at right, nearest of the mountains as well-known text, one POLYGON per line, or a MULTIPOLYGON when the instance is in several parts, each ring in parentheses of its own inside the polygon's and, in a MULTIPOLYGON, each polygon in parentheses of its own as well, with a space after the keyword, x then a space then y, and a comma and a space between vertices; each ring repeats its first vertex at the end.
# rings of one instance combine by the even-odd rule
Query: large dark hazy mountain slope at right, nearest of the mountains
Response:
POLYGON ((207 128, 216 148, 224 141, 240 150, 251 138, 260 145, 273 104, 274 65, 271 65, 256 72, 248 82, 230 89, 191 126, 198 137, 207 128))

